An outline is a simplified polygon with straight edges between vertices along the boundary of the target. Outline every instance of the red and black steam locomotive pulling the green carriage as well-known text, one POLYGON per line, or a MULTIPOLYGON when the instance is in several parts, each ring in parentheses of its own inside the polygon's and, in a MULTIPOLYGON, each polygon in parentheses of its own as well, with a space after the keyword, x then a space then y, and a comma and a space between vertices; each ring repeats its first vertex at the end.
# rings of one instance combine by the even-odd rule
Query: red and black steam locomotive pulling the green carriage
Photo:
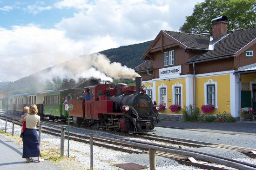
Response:
MULTIPOLYGON (((135 86, 118 83, 90 88, 90 100, 66 100, 70 116, 76 124, 98 126, 103 129, 143 133, 155 128, 159 105, 153 105, 145 93, 142 78, 135 78, 135 86)), ((84 89, 86 89, 84 88, 84 89)))

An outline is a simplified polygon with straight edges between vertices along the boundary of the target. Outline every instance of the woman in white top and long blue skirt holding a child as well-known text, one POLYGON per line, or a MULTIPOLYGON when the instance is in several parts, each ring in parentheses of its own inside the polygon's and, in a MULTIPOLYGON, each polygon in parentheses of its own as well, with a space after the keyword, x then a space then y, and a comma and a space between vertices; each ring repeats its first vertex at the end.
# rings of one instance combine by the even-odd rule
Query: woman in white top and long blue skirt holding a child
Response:
POLYGON ((22 157, 26 158, 26 162, 33 162, 34 159, 30 157, 38 157, 38 162, 44 160, 40 158, 40 146, 36 126, 40 124, 40 116, 37 115, 37 107, 32 104, 29 106, 29 113, 20 120, 23 123, 26 120, 26 131, 23 133, 23 154, 22 157))

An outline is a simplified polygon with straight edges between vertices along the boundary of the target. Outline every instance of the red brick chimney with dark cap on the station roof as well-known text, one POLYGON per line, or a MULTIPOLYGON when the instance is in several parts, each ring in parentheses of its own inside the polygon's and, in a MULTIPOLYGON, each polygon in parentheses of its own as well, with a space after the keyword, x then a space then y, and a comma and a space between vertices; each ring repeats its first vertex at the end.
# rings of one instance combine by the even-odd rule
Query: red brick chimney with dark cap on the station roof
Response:
POLYGON ((212 20, 212 37, 219 39, 227 34, 228 18, 223 15, 212 20))

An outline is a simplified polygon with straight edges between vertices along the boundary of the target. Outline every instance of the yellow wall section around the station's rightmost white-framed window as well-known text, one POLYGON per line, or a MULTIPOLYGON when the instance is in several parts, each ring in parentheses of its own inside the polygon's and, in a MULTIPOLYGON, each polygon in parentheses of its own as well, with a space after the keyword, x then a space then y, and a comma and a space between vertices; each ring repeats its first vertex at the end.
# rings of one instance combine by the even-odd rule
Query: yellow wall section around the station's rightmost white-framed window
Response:
POLYGON ((196 107, 199 108, 200 112, 202 105, 204 103, 204 83, 208 82, 209 79, 217 82, 217 99, 218 99, 218 108, 215 111, 209 114, 217 114, 219 111, 223 113, 223 111, 230 112, 230 76, 227 75, 216 75, 209 77, 198 77, 195 78, 195 102, 196 107))

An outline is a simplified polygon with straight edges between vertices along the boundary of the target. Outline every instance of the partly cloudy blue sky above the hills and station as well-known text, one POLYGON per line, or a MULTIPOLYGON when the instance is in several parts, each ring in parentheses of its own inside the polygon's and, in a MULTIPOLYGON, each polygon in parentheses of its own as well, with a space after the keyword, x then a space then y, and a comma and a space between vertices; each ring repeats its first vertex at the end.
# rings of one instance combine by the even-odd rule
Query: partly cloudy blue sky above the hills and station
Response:
MULTIPOLYGON (((0 0, 0 81, 179 31, 203 0, 0 0)), ((141 57, 141 56, 138 56, 141 57)))

